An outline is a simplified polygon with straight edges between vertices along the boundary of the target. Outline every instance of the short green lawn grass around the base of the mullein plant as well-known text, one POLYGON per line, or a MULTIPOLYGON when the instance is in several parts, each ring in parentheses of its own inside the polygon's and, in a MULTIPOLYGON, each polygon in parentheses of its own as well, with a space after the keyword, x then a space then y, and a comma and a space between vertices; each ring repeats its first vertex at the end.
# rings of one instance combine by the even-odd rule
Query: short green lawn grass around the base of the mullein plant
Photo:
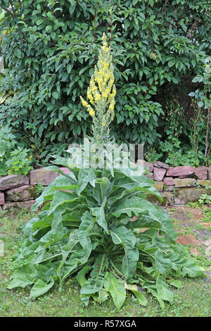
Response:
POLYGON ((181 289, 174 292, 172 304, 161 309, 158 301, 146 294, 148 306, 139 306, 132 295, 128 296, 118 313, 112 299, 103 304, 90 301, 84 307, 79 299, 79 286, 70 277, 63 288, 58 285, 37 299, 30 299, 30 287, 6 289, 11 271, 11 255, 22 241, 23 226, 32 218, 29 211, 0 212, 0 240, 4 242, 4 256, 0 257, 0 317, 208 317, 211 315, 210 284, 203 278, 182 280, 181 289))

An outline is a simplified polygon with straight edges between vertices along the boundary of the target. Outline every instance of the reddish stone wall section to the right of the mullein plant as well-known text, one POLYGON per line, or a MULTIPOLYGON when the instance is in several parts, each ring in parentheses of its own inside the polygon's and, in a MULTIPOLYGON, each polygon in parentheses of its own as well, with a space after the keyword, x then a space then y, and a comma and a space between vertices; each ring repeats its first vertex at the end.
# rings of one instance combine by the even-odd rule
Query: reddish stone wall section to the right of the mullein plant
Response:
POLYGON ((156 181, 154 186, 163 198, 162 203, 153 195, 149 195, 148 200, 162 206, 196 202, 202 194, 207 194, 205 186, 211 185, 211 168, 205 166, 192 168, 190 165, 182 165, 170 168, 160 161, 143 161, 143 166, 148 168, 146 177, 156 181))

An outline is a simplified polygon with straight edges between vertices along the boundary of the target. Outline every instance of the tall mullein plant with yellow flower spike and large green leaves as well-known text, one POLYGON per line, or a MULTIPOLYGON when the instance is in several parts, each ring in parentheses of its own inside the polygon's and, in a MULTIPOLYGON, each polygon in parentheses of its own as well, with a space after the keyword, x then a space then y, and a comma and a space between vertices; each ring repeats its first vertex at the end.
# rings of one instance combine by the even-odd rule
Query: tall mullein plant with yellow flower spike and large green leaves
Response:
MULTIPOLYGON (((103 35, 87 91, 89 103, 82 99, 93 118, 91 139, 103 143, 115 106, 111 60, 103 35)), ((170 216, 146 199, 153 194, 162 200, 152 180, 114 163, 110 168, 70 168, 68 160, 59 157, 53 163, 47 169, 60 176, 32 207, 42 208, 25 225, 8 289, 32 285, 30 297, 37 298, 56 282, 62 286, 68 277, 76 277, 84 305, 112 296, 120 311, 130 293, 142 306, 153 295, 164 308, 165 301, 173 299, 169 285, 181 287, 182 277, 204 275, 198 261, 175 243, 170 216), (70 175, 57 165, 70 168, 70 175)))

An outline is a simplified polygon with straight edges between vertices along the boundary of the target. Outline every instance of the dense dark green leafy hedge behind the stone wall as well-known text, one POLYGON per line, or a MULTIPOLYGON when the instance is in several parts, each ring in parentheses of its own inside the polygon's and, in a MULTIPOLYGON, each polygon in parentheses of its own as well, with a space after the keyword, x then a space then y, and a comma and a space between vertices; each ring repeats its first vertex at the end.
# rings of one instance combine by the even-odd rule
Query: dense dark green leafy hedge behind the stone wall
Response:
POLYGON ((20 145, 37 154, 37 163, 90 134, 91 118, 79 96, 86 97, 106 32, 115 67, 117 142, 145 144, 148 161, 209 164, 210 5, 0 0, 6 67, 0 125, 10 125, 20 145))

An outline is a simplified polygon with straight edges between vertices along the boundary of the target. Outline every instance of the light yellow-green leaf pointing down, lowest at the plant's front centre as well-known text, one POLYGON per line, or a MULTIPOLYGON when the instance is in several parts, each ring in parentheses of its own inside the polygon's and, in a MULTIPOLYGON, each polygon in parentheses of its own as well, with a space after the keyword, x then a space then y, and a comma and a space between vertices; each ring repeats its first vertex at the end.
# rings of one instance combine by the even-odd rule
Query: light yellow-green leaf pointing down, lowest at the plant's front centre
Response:
POLYGON ((117 279, 113 273, 106 273, 104 287, 113 297, 113 302, 117 307, 117 311, 120 311, 126 298, 126 290, 124 289, 122 280, 117 279))

